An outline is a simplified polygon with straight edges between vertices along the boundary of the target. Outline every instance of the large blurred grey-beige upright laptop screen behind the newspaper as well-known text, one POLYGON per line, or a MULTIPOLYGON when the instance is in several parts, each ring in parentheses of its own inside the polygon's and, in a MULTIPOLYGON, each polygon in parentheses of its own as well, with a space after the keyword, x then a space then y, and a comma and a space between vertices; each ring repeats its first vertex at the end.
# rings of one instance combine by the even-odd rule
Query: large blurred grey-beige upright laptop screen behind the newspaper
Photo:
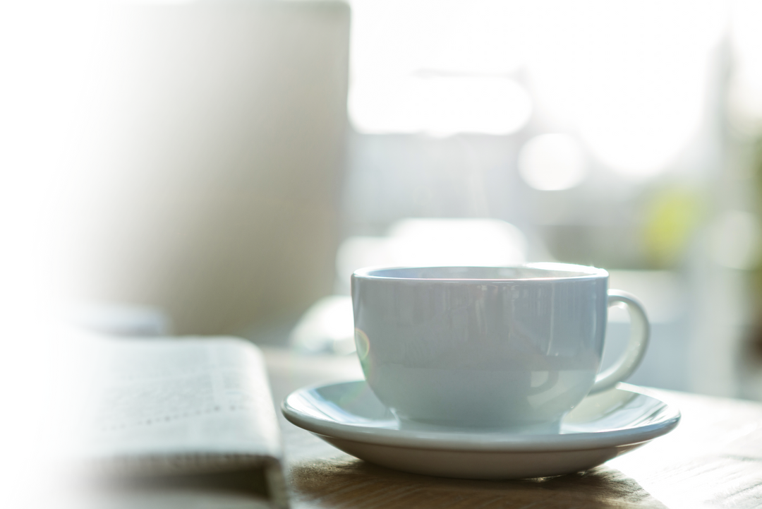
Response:
POLYGON ((348 39, 343 2, 107 5, 46 304, 152 304, 222 334, 331 293, 348 39))

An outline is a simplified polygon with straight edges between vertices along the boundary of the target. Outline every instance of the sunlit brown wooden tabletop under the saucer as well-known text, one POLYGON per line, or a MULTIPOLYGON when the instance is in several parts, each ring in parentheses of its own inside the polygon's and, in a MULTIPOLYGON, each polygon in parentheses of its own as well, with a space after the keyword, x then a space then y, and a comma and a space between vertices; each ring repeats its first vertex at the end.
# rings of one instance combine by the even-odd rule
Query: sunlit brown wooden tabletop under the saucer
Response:
POLYGON ((375 466, 288 422, 280 402, 313 384, 361 379, 355 357, 264 349, 292 507, 762 508, 762 404, 656 390, 682 419, 664 437, 603 466, 551 479, 444 479, 375 466))

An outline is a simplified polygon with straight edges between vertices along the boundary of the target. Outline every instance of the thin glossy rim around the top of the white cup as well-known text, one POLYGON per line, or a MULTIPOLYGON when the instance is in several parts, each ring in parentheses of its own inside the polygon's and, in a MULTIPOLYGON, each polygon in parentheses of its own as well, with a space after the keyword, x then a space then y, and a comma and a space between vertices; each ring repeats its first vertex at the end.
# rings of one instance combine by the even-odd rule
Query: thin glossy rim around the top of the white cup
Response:
POLYGON ((585 265, 562 264, 556 262, 538 262, 520 265, 432 265, 432 266, 398 266, 398 267, 364 267, 357 269, 352 274, 353 278, 367 280, 391 280, 391 281, 448 281, 448 282, 469 282, 469 281, 491 281, 491 282, 517 282, 517 281, 566 281, 566 280, 590 280, 601 277, 609 277, 608 271, 597 267, 588 267, 585 265), (400 275, 383 274, 386 271, 399 271, 400 269, 436 269, 436 268, 527 268, 538 269, 540 271, 566 272, 569 275, 553 275, 548 277, 407 277, 400 275), (379 274, 381 273, 381 274, 379 274))

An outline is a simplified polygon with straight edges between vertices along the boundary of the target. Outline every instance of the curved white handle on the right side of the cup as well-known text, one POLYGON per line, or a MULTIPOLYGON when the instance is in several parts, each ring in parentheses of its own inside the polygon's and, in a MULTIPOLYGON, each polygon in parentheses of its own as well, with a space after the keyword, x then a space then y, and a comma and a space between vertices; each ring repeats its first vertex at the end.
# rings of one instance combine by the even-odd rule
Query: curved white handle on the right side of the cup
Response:
POLYGON ((593 388, 588 394, 603 392, 612 389, 617 383, 622 382, 636 370, 640 361, 643 360, 645 347, 648 346, 648 338, 651 335, 651 326, 645 316, 643 305, 632 293, 622 290, 609 290, 609 307, 616 303, 624 303, 627 306, 630 319, 630 333, 627 348, 620 360, 603 373, 599 373, 595 379, 593 388))

